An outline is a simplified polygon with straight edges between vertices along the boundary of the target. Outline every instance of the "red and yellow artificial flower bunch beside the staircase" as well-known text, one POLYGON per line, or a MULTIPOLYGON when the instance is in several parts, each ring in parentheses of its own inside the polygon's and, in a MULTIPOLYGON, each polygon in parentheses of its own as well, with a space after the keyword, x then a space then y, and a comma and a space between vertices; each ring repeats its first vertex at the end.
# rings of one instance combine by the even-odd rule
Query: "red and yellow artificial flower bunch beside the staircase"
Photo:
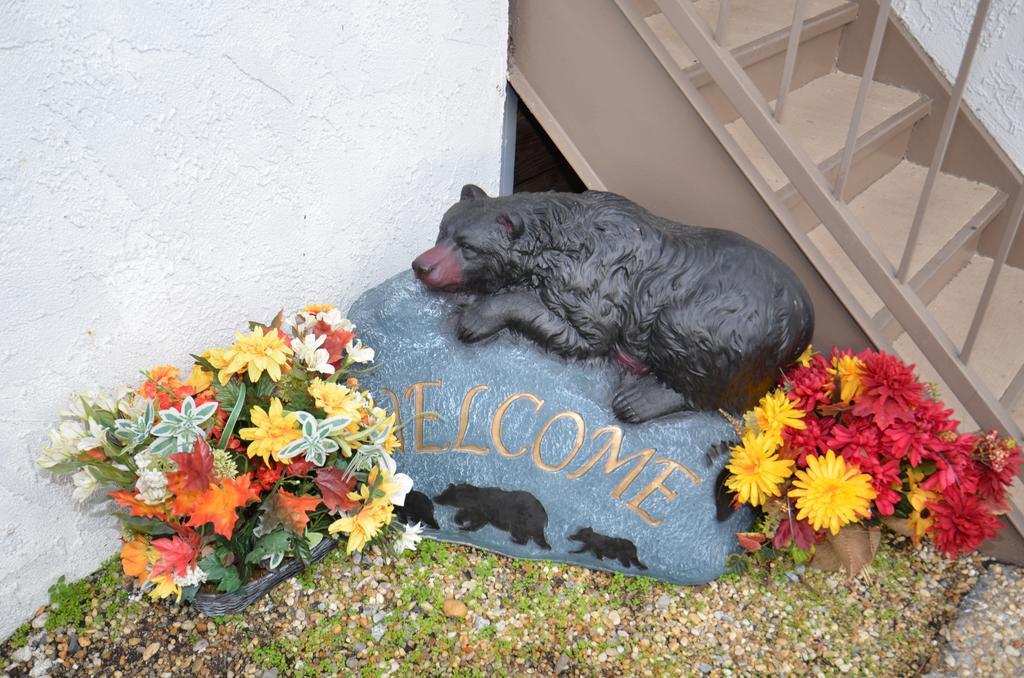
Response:
MULTIPOLYGON (((995 536, 1021 464, 1016 441, 962 433, 912 366, 881 351, 810 348, 742 421, 725 486, 760 509, 740 545, 795 560, 880 522, 950 557, 995 536)), ((877 538, 873 542, 877 546, 877 538)), ((849 548, 842 549, 849 551, 849 548)), ((847 554, 849 555, 849 554, 847 554)), ((855 574, 870 561, 857 558, 855 574)), ((842 560, 842 558, 841 558, 842 560)))

